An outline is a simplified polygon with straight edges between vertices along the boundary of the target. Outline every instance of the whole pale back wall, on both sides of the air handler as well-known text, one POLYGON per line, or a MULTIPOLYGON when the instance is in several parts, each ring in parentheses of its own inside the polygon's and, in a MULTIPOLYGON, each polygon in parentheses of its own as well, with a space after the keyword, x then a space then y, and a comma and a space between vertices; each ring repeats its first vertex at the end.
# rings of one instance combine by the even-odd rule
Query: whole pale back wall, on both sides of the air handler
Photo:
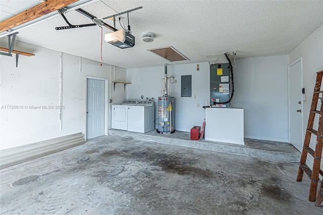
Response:
MULTIPOLYGON (((288 142, 287 65, 288 56, 238 61, 232 107, 245 109, 245 136, 288 142)), ((196 64, 168 66, 168 76, 177 79, 177 84, 171 85, 171 95, 176 98, 176 130, 190 131, 205 118, 202 106, 209 101, 209 64, 199 63, 199 67, 196 71, 196 64), (181 97, 181 75, 192 75, 192 97, 181 97), (197 103, 200 108, 196 108, 197 103)), ((132 84, 127 87, 127 98, 161 96, 161 77, 164 77, 164 66, 128 69, 127 81, 132 84)))

